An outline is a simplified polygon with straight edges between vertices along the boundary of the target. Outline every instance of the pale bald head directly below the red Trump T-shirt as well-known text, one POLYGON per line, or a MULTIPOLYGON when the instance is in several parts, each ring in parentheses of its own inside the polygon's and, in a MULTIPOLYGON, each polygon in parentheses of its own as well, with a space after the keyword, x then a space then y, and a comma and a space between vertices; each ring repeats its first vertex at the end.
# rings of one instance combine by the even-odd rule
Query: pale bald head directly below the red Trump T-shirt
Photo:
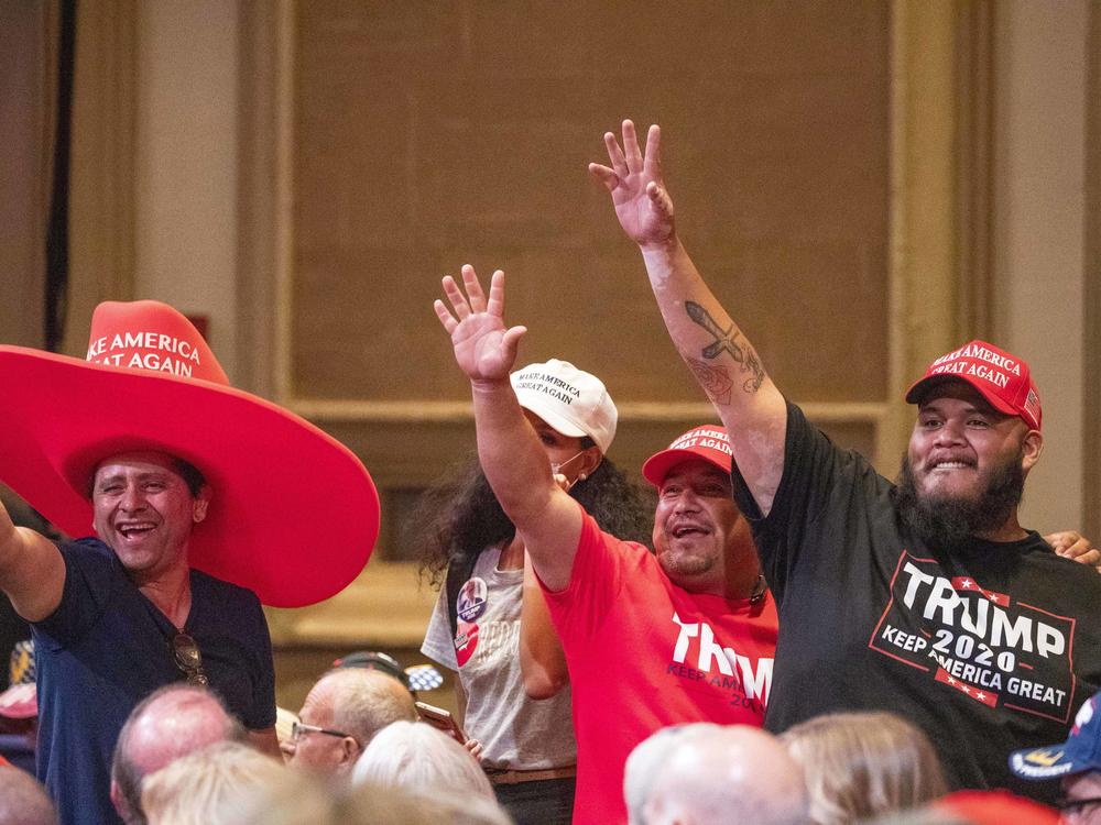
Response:
POLYGON ((674 740, 643 805, 646 825, 807 822, 803 771, 763 730, 732 725, 674 740))

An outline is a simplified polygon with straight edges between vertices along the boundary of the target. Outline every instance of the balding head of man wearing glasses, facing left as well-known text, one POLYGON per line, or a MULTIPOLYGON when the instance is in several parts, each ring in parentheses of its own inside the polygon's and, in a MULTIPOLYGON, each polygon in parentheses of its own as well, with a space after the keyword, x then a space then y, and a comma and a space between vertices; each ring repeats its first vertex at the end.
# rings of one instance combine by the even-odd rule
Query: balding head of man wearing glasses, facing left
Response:
POLYGON ((367 668, 330 670, 309 690, 298 714, 304 725, 344 734, 305 733, 284 743, 291 763, 347 773, 374 735, 393 722, 415 722, 408 690, 386 673, 367 668))

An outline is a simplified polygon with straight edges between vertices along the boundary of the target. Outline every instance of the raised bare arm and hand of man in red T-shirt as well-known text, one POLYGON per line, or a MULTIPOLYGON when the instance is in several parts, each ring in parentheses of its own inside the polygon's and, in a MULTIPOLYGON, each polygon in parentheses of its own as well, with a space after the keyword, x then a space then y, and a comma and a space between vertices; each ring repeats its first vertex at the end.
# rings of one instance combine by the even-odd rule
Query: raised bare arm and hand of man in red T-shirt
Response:
POLYGON ((451 337, 455 361, 470 380, 478 459, 498 502, 531 553, 535 572, 553 591, 569 583, 581 535, 580 505, 550 475, 535 430, 521 410, 509 372, 524 327, 504 327, 504 273, 490 283, 489 299, 472 266, 462 267, 459 288, 450 276, 436 316, 451 337))

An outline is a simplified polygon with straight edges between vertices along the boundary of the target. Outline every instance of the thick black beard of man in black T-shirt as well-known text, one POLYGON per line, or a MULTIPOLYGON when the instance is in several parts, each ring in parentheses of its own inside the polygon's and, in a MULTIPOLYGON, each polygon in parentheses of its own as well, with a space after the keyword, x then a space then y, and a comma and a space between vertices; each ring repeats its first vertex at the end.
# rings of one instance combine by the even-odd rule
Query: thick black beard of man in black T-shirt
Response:
POLYGON ((1021 504, 1025 475, 1021 466, 1024 449, 986 473, 986 488, 973 499, 919 495, 909 457, 903 455, 902 470, 892 491, 902 521, 930 550, 961 550, 974 536, 991 532, 1005 524, 1021 504))

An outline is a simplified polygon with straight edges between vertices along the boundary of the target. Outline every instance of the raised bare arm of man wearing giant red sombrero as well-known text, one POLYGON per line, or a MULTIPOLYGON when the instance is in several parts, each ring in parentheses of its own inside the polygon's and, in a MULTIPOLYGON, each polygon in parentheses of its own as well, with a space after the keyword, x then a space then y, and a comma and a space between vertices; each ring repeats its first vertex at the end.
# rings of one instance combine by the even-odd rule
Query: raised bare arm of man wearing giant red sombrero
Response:
POLYGON ((44 619, 62 601, 65 561, 45 536, 15 527, 0 504, 0 590, 28 622, 44 619))

